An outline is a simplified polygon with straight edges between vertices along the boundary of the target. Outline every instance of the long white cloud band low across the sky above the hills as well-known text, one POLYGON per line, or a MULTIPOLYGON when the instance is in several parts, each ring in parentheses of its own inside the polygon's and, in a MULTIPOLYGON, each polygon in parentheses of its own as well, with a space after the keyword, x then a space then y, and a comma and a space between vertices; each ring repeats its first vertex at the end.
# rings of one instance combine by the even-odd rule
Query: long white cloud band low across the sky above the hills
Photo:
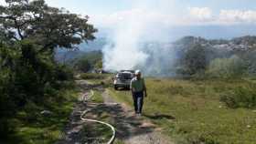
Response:
POLYGON ((187 9, 187 12, 179 14, 131 9, 112 15, 91 15, 91 22, 102 26, 116 26, 131 20, 161 26, 256 24, 256 11, 253 10, 220 10, 219 13, 213 13, 209 7, 188 7, 187 9))

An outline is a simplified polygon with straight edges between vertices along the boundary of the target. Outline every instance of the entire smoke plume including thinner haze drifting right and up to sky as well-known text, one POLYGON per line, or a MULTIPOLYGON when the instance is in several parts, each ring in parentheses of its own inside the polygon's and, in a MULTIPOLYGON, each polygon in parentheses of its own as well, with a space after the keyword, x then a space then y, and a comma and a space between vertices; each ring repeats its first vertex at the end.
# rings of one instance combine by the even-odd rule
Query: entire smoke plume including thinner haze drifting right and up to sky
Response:
POLYGON ((169 26, 172 16, 163 14, 164 9, 162 8, 167 7, 164 3, 166 1, 162 0, 154 8, 152 6, 155 4, 149 5, 148 1, 147 3, 142 2, 140 1, 140 4, 135 3, 132 10, 119 13, 119 15, 112 15, 118 17, 119 22, 113 26, 113 34, 109 37, 110 44, 103 49, 104 69, 140 68, 144 72, 153 73, 155 70, 152 69, 161 71, 164 67, 163 64, 166 61, 160 61, 160 59, 166 60, 164 57, 168 57, 170 60, 172 57, 172 55, 166 54, 164 46, 146 45, 168 40, 170 34, 166 32, 166 26, 169 26), (159 24, 160 20, 161 24, 159 24), (166 25, 163 24, 163 21, 166 22, 166 25))

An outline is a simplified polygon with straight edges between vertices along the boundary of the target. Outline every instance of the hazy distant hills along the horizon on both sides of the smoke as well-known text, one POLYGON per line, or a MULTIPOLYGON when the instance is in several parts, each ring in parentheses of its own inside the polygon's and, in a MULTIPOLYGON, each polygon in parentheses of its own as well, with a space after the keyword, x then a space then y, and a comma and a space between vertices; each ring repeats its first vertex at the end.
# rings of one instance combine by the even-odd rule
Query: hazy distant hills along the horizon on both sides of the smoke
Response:
MULTIPOLYGON (((79 50, 75 51, 62 51, 58 50, 56 52, 56 58, 58 61, 70 60, 76 57, 81 57, 87 52, 91 51, 101 51, 103 47, 107 44, 106 38, 97 38, 94 41, 90 41, 89 43, 83 43, 79 47, 79 50)), ((233 38, 231 40, 225 39, 205 39, 203 37, 195 37, 195 36, 185 36, 181 39, 176 40, 176 42, 170 42, 168 44, 159 44, 157 46, 165 45, 165 46, 176 46, 179 49, 186 49, 190 46, 199 44, 202 46, 208 46, 213 49, 222 49, 222 50, 249 50, 256 47, 256 36, 242 36, 233 38)), ((155 42, 146 43, 144 46, 155 46, 155 42)))

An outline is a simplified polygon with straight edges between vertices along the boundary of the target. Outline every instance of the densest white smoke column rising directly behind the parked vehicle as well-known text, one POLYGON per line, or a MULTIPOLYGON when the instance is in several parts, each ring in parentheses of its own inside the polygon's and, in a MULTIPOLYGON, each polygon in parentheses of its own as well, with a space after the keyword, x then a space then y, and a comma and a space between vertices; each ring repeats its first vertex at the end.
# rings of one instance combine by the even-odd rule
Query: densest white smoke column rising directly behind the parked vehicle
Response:
POLYGON ((143 65, 148 57, 139 47, 144 33, 144 22, 137 17, 126 17, 125 23, 114 29, 112 44, 103 49, 104 68, 108 70, 133 69, 143 65))

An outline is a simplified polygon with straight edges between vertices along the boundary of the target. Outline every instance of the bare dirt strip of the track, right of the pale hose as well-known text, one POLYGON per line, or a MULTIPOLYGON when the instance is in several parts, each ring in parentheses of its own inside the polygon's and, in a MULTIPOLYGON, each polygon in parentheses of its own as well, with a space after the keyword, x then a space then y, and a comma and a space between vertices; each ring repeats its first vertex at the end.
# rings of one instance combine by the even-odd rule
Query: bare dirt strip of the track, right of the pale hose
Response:
MULTIPOLYGON (((102 93, 106 104, 116 103, 108 91, 102 93)), ((110 111, 117 130, 117 139, 125 144, 173 144, 170 139, 161 134, 151 122, 134 116, 133 109, 125 104, 112 105, 116 111, 110 111)))

